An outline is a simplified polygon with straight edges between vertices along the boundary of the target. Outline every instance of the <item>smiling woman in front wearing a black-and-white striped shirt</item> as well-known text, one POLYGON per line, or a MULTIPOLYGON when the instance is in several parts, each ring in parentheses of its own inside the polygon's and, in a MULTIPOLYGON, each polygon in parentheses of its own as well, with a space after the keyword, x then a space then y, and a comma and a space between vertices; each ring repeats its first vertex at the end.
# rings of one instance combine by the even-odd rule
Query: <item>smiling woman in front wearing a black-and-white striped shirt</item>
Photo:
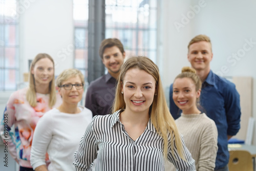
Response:
POLYGON ((118 77, 113 114, 96 116, 77 153, 76 170, 163 170, 164 159, 179 170, 195 170, 195 161, 170 115, 157 65, 131 57, 118 77))

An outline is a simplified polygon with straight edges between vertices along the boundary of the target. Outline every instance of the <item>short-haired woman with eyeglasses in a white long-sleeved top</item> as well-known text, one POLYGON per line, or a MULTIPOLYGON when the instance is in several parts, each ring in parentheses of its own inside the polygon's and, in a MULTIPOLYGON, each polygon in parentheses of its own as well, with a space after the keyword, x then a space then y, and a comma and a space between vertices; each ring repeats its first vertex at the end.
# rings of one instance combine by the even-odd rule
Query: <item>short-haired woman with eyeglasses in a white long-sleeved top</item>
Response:
POLYGON ((36 126, 31 149, 35 171, 75 170, 74 152, 92 120, 92 112, 78 105, 83 94, 82 73, 76 69, 65 70, 57 77, 56 84, 62 104, 47 112, 36 126), (46 153, 51 162, 48 168, 46 153))

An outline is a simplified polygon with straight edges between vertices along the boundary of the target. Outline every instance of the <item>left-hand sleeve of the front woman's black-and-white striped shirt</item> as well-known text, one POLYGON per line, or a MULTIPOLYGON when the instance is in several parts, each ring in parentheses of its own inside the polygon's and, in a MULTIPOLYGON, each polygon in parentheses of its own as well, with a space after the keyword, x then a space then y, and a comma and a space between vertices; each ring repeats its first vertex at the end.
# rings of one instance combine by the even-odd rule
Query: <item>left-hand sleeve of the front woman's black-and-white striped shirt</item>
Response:
MULTIPOLYGON (((96 116, 97 117, 97 116, 96 116)), ((82 137, 78 151, 74 154, 74 165, 76 171, 90 170, 91 164, 97 158, 98 146, 94 134, 95 118, 88 125, 82 137)))

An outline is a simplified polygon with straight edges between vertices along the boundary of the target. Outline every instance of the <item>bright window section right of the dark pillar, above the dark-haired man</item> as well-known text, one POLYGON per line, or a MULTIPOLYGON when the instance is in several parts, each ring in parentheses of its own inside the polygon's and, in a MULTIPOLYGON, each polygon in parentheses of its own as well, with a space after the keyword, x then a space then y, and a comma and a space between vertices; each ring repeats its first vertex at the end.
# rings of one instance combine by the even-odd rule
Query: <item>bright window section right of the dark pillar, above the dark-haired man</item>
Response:
POLYGON ((119 38, 127 56, 143 55, 156 62, 157 0, 106 0, 105 4, 105 37, 119 38))

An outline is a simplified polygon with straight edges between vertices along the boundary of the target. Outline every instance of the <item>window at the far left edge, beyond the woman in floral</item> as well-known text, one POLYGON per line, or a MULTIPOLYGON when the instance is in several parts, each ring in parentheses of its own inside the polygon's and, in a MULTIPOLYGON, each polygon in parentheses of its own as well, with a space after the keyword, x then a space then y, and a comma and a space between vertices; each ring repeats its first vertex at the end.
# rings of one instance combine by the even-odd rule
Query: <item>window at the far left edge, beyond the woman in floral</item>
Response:
POLYGON ((0 2, 0 91, 16 90, 19 80, 17 1, 0 2))

